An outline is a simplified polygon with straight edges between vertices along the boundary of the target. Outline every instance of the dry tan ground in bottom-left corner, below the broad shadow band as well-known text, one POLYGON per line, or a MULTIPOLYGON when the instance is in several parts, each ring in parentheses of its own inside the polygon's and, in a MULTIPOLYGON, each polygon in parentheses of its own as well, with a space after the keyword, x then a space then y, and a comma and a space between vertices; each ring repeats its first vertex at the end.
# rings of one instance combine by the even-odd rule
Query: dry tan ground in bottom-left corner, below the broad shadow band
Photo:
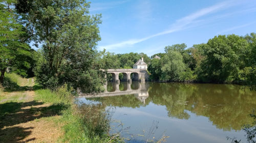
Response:
MULTIPOLYGON (((50 117, 51 120, 41 118, 2 129, 3 142, 57 142, 63 134, 54 120, 59 116, 50 117)), ((1 141, 0 141, 1 142, 1 141)))

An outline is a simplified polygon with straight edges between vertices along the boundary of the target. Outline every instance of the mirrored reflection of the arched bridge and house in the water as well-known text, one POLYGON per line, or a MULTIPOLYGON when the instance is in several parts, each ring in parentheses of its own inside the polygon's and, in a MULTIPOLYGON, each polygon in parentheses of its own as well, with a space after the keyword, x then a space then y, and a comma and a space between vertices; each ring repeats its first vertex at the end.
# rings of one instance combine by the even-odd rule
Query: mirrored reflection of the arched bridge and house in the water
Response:
POLYGON ((145 99, 148 97, 148 82, 133 81, 129 82, 108 82, 104 85, 105 91, 97 95, 84 95, 81 97, 94 98, 94 97, 109 97, 109 96, 122 96, 122 95, 132 95, 145 103, 145 99))

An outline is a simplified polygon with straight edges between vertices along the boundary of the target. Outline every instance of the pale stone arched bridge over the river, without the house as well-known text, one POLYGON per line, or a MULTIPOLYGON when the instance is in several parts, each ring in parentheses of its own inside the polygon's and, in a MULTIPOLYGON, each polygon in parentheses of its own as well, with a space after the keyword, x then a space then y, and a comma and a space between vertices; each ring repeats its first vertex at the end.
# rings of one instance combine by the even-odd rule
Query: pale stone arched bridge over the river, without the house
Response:
POLYGON ((122 81, 128 81, 131 82, 131 74, 133 74, 133 80, 134 81, 147 81, 149 78, 149 75, 145 69, 108 69, 106 70, 107 73, 112 74, 112 81, 113 82, 120 82, 119 79, 119 73, 123 74, 123 80, 122 81))

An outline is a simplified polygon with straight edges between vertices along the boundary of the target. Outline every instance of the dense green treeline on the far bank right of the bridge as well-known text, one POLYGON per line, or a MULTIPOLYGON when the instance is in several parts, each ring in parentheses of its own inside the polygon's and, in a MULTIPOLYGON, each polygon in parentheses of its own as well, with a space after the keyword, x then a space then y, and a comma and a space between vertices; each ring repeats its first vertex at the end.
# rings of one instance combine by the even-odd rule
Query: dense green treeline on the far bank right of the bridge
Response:
MULTIPOLYGON (((153 80, 256 84, 256 34, 219 35, 206 44, 165 47, 152 59, 153 80)), ((153 55, 153 56, 155 56, 153 55)))

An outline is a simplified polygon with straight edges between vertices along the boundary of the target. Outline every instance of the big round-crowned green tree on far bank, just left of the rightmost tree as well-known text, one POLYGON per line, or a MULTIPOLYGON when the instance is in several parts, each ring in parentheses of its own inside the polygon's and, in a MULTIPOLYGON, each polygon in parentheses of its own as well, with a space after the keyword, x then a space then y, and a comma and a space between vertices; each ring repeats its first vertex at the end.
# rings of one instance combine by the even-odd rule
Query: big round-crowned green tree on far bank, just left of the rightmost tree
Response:
POLYGON ((219 35, 203 46, 205 60, 202 75, 211 82, 238 80, 239 69, 244 67, 247 42, 236 35, 219 35))

